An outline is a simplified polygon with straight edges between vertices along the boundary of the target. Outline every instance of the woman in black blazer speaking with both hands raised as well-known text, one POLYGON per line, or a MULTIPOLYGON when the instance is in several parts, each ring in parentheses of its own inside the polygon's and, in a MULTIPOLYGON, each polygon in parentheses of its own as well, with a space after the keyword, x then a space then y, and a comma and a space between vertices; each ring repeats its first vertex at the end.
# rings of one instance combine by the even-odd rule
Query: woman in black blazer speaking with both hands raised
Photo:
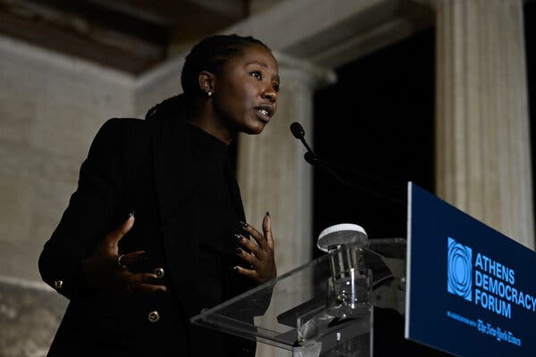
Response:
POLYGON ((39 258, 70 299, 49 356, 255 353, 188 319, 276 276, 270 215, 262 232, 245 223, 227 147, 263 131, 279 81, 262 42, 208 37, 186 58, 182 95, 146 120, 106 121, 39 258))

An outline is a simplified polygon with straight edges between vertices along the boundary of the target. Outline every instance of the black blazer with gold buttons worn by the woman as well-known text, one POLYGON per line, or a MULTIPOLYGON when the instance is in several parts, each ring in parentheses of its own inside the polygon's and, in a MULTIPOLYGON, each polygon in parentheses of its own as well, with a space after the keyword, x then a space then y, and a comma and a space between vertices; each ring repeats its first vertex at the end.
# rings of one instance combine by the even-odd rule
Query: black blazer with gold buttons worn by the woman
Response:
MULTIPOLYGON (((213 355, 203 339, 220 338, 228 354, 252 355, 255 344, 218 337, 189 325, 200 311, 196 281, 197 199, 186 122, 112 119, 98 131, 80 168, 77 190, 39 258, 43 280, 71 301, 54 337, 50 356, 113 351, 115 355, 213 355), (120 253, 144 250, 141 270, 162 268, 168 292, 156 294, 91 291, 81 262, 106 233, 136 212, 120 253), (157 311, 159 319, 148 316, 157 311), (153 319, 154 320, 154 319, 153 319), (200 347, 197 349, 197 347, 200 347)), ((231 200, 244 219, 239 187, 231 200)), ((237 294, 252 287, 237 280, 237 294)), ((153 314, 153 317, 155 315, 153 314)), ((217 355, 223 355, 219 347, 217 355)))

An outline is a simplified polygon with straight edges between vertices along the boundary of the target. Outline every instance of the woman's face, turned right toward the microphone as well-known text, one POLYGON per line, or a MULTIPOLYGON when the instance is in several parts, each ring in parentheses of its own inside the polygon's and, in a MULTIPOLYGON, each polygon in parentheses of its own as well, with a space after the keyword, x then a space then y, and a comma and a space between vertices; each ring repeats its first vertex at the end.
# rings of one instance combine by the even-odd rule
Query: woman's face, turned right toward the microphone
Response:
POLYGON ((214 75, 214 115, 230 129, 259 134, 277 110, 280 79, 272 53, 247 46, 214 75))

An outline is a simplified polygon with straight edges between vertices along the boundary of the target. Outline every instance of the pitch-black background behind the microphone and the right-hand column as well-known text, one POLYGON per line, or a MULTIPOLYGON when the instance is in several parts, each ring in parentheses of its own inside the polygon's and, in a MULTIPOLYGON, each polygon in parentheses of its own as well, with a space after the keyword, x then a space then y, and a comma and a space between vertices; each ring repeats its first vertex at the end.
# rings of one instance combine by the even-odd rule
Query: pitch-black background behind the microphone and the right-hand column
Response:
MULTIPOLYGON (((536 29, 531 21, 535 13, 535 2, 524 5, 531 119, 536 117, 536 29)), ((434 30, 424 29, 336 69, 337 83, 315 93, 314 137, 308 138, 315 153, 389 183, 348 176, 359 187, 368 187, 367 192, 314 169, 314 239, 323 228, 338 223, 358 224, 371 239, 406 237, 406 191, 392 186, 405 188, 411 180, 435 193, 434 30), (373 195, 371 189, 404 204, 373 195)), ((535 130, 531 133, 534 138, 535 130)), ((314 257, 321 254, 314 246, 314 257)))

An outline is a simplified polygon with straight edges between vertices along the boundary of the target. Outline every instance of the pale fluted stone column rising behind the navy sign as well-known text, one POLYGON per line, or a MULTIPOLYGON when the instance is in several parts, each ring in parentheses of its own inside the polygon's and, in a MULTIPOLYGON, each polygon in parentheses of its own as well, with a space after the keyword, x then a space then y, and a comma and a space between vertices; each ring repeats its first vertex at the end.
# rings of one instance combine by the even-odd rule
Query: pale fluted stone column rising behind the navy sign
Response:
POLYGON ((437 194, 534 247, 522 0, 437 0, 437 194))

